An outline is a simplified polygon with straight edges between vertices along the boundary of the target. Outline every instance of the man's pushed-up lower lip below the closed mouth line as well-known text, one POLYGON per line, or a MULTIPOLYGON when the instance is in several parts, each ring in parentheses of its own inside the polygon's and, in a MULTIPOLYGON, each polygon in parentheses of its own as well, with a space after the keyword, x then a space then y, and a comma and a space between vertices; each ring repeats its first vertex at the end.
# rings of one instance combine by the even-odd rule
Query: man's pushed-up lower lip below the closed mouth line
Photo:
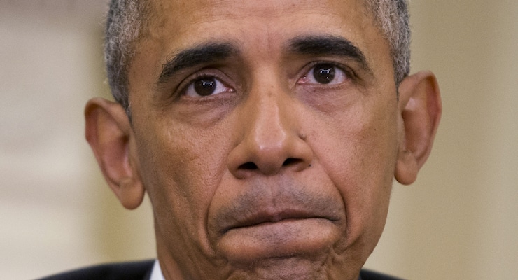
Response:
POLYGON ((228 230, 218 248, 230 260, 247 262, 327 251, 337 237, 339 229, 328 219, 290 218, 228 230))

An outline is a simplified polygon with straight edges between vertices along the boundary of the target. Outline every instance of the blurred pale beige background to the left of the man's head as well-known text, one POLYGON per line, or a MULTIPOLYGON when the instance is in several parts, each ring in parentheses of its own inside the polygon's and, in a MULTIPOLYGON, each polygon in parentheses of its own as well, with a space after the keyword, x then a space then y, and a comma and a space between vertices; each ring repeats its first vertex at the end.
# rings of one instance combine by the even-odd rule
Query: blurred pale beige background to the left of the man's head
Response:
POLYGON ((83 137, 85 102, 108 92, 104 13, 0 0, 0 279, 155 255, 149 207, 120 207, 83 137))

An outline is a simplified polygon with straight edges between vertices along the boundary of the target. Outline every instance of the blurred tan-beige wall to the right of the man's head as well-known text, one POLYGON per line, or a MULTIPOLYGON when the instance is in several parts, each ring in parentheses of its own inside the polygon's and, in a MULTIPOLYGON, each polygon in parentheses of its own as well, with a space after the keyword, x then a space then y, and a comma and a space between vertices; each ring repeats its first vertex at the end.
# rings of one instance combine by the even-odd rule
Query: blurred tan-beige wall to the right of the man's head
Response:
POLYGON ((413 186, 395 186, 369 266, 409 279, 518 279, 518 1, 411 2, 413 71, 444 114, 413 186))

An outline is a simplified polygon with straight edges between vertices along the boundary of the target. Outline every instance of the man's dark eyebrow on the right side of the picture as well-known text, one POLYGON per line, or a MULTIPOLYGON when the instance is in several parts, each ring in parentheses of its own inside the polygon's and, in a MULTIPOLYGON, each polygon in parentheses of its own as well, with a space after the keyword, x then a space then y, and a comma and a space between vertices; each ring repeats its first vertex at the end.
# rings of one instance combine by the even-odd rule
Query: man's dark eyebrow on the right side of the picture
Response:
POLYGON ((354 43, 339 36, 303 36, 288 43, 288 52, 300 55, 333 55, 353 59, 372 73, 365 55, 354 43))

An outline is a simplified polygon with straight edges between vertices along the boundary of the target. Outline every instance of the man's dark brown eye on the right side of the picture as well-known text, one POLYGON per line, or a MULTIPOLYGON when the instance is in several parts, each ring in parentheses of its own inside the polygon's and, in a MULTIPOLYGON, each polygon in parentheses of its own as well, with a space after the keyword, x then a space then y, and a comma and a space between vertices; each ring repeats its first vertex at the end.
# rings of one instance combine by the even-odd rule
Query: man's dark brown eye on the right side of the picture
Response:
POLYGON ((344 83, 347 78, 346 73, 339 67, 330 63, 319 63, 309 69, 299 83, 335 85, 344 83))

